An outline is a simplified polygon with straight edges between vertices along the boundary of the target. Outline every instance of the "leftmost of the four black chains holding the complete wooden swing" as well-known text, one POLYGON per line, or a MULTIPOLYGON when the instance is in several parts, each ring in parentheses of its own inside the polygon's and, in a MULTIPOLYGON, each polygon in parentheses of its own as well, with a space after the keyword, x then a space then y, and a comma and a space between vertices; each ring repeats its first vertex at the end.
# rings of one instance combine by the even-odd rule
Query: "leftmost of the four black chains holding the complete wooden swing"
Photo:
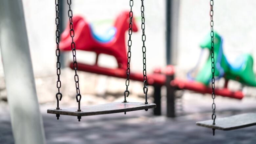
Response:
MULTIPOLYGON (((60 110, 59 108, 59 101, 62 98, 62 94, 60 93, 60 87, 61 87, 61 81, 60 81, 60 49, 59 49, 59 39, 60 39, 60 31, 59 31, 59 24, 60 24, 60 18, 59 18, 59 0, 55 0, 55 12, 56 12, 56 18, 55 18, 55 24, 56 24, 56 51, 55 54, 57 56, 57 63, 56 63, 56 68, 57 68, 57 89, 58 93, 56 93, 56 99, 57 99, 57 107, 56 110, 60 110), (58 97, 59 96, 59 97, 58 97)), ((57 119, 59 119, 59 114, 56 114, 57 119)))

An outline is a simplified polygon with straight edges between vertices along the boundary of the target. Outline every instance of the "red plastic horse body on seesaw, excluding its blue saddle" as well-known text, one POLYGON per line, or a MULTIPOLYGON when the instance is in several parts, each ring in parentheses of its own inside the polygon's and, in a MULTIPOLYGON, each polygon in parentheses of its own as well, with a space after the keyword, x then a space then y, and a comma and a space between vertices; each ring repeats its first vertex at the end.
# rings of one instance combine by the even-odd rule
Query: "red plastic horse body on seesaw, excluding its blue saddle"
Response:
MULTIPOLYGON (((96 54, 113 55, 117 59, 118 68, 126 69, 127 52, 125 32, 129 28, 129 11, 122 12, 115 21, 117 32, 110 42, 102 43, 94 39, 89 23, 81 16, 73 17, 75 30, 74 42, 77 50, 94 51, 96 54)), ((59 47, 62 51, 71 51, 70 27, 67 25, 61 34, 59 47)), ((133 32, 138 31, 136 20, 133 18, 133 32)), ((128 34, 127 34, 128 35, 128 34)))

